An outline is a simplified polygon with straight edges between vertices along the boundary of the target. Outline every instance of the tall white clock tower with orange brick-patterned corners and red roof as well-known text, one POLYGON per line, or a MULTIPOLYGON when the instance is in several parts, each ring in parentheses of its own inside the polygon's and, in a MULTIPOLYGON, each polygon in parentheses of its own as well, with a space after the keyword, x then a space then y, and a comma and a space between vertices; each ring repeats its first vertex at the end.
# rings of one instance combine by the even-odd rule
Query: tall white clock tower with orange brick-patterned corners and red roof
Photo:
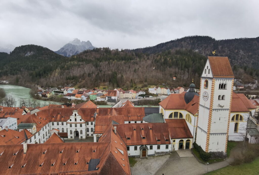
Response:
POLYGON ((196 143, 206 152, 227 151, 234 74, 228 57, 208 57, 200 79, 196 143))

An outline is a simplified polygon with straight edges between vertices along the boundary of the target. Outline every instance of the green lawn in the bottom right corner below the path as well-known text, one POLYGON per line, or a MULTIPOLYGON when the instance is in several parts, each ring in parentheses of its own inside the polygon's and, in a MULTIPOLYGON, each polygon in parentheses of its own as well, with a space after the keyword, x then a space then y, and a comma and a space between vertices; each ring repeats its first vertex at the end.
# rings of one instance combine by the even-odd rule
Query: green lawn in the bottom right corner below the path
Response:
POLYGON ((246 163, 242 165, 226 166, 219 170, 209 172, 207 174, 259 174, 259 158, 256 158, 252 163, 246 163))

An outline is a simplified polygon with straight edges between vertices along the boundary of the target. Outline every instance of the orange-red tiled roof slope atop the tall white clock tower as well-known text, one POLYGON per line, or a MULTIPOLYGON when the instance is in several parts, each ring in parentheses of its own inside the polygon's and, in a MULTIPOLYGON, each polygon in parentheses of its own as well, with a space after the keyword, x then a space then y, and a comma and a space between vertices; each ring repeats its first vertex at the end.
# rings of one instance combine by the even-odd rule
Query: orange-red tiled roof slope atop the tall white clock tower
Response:
POLYGON ((208 57, 213 77, 234 78, 228 57, 208 57))

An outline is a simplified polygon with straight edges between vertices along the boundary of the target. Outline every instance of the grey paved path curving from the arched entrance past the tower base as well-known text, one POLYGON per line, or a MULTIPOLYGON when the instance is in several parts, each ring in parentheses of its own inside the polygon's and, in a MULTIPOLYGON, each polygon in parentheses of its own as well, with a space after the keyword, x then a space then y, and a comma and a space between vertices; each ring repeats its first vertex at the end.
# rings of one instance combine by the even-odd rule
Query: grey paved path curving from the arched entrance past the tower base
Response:
POLYGON ((169 174, 205 174, 229 165, 230 159, 209 165, 199 163, 195 157, 179 157, 177 152, 173 152, 166 163, 155 173, 157 175, 169 174))

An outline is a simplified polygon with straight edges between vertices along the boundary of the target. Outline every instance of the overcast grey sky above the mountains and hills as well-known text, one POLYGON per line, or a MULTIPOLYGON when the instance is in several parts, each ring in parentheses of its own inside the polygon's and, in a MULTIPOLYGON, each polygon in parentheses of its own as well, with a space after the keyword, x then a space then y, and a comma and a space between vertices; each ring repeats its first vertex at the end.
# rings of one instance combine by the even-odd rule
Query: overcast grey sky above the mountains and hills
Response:
POLYGON ((259 36, 259 1, 0 1, 0 45, 59 50, 73 38, 139 48, 190 35, 259 36))

